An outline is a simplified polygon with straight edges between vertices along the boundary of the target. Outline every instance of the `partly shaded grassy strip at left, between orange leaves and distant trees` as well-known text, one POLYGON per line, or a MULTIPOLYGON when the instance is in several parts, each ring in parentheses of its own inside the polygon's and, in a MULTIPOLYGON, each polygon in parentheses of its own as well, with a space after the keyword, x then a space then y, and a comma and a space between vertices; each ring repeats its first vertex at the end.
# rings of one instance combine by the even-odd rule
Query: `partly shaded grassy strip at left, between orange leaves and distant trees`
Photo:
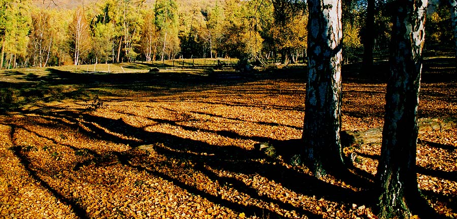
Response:
MULTIPOLYGON (((220 59, 221 65, 233 65, 236 61, 220 59)), ((122 96, 121 93, 143 87, 161 90, 166 84, 198 83, 211 80, 210 73, 231 71, 214 70, 214 63, 217 64, 217 59, 177 59, 160 64, 134 62, 2 70, 0 111, 66 99, 88 101, 97 95, 122 96), (149 73, 151 68, 159 68, 160 72, 149 73), (154 80, 158 84, 151 85, 149 82, 154 80)))

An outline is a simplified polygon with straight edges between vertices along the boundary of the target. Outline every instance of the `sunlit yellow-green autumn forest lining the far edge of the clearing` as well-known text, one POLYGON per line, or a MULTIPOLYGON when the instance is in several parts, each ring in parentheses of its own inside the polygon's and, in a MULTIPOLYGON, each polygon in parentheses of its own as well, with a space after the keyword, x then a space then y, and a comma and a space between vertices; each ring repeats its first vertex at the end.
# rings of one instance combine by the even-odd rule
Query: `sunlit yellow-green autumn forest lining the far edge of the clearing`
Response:
MULTIPOLYGON (((46 67, 176 58, 235 57, 258 65, 306 57, 304 0, 2 0, 2 68, 46 67)), ((365 38, 387 53, 391 1, 343 2, 344 62, 362 60, 365 38)), ((429 7, 426 49, 452 47, 449 9, 429 7)))

